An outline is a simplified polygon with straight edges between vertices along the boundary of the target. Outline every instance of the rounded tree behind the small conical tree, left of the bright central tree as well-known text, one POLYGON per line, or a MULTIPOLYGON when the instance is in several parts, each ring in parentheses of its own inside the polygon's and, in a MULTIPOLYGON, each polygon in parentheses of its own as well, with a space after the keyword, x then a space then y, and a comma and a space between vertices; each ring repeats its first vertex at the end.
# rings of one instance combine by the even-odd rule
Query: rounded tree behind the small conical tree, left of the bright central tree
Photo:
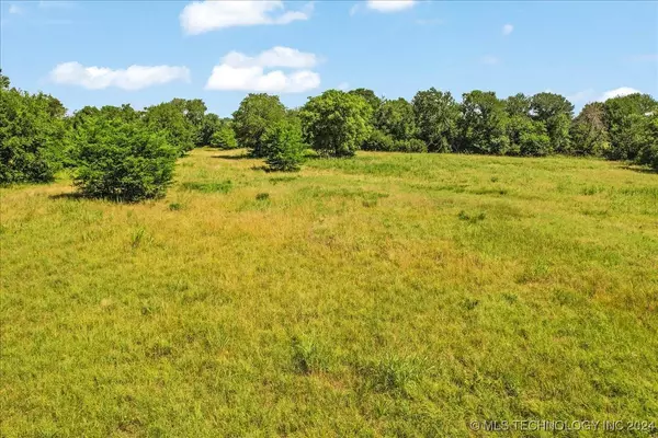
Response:
POLYGON ((266 155, 263 135, 268 127, 285 118, 286 110, 279 96, 249 93, 232 116, 238 145, 249 149, 253 157, 262 158, 266 155))

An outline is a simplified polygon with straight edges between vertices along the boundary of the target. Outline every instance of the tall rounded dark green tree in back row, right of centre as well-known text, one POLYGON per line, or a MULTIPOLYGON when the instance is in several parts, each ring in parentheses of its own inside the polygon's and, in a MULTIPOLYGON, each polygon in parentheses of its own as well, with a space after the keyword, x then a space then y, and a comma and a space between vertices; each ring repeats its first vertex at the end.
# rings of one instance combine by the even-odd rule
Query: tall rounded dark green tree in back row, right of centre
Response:
POLYGON ((434 88, 419 91, 411 101, 418 126, 418 137, 430 152, 450 152, 457 136, 460 105, 450 92, 434 88))

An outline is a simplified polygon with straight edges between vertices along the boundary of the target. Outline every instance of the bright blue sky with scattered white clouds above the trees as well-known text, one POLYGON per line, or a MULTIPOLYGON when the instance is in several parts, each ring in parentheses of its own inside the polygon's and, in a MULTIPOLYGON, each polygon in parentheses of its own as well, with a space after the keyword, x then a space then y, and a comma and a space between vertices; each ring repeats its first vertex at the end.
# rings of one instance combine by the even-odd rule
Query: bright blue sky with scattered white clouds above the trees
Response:
POLYGON ((579 110, 658 96, 653 1, 0 1, 12 85, 86 105, 203 99, 229 116, 250 92, 291 107, 328 89, 411 100, 551 91, 579 110))

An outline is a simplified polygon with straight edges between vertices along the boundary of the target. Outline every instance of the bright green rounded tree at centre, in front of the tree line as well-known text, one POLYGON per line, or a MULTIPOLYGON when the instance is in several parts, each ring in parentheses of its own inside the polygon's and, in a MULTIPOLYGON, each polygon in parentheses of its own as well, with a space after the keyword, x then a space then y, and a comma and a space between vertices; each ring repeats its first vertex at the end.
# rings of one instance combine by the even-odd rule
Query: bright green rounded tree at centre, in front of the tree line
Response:
POLYGON ((367 102, 338 90, 310 97, 299 115, 307 143, 325 155, 354 155, 372 130, 367 102))

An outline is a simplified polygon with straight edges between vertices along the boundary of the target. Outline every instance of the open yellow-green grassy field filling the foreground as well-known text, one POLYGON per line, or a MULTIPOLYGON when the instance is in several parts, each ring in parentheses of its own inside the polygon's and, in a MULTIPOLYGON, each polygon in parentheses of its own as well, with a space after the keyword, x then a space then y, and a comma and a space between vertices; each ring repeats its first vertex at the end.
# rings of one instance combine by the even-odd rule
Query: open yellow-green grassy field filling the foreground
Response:
POLYGON ((366 152, 261 166, 195 150, 137 205, 66 178, 0 189, 3 437, 658 422, 657 174, 366 152))

